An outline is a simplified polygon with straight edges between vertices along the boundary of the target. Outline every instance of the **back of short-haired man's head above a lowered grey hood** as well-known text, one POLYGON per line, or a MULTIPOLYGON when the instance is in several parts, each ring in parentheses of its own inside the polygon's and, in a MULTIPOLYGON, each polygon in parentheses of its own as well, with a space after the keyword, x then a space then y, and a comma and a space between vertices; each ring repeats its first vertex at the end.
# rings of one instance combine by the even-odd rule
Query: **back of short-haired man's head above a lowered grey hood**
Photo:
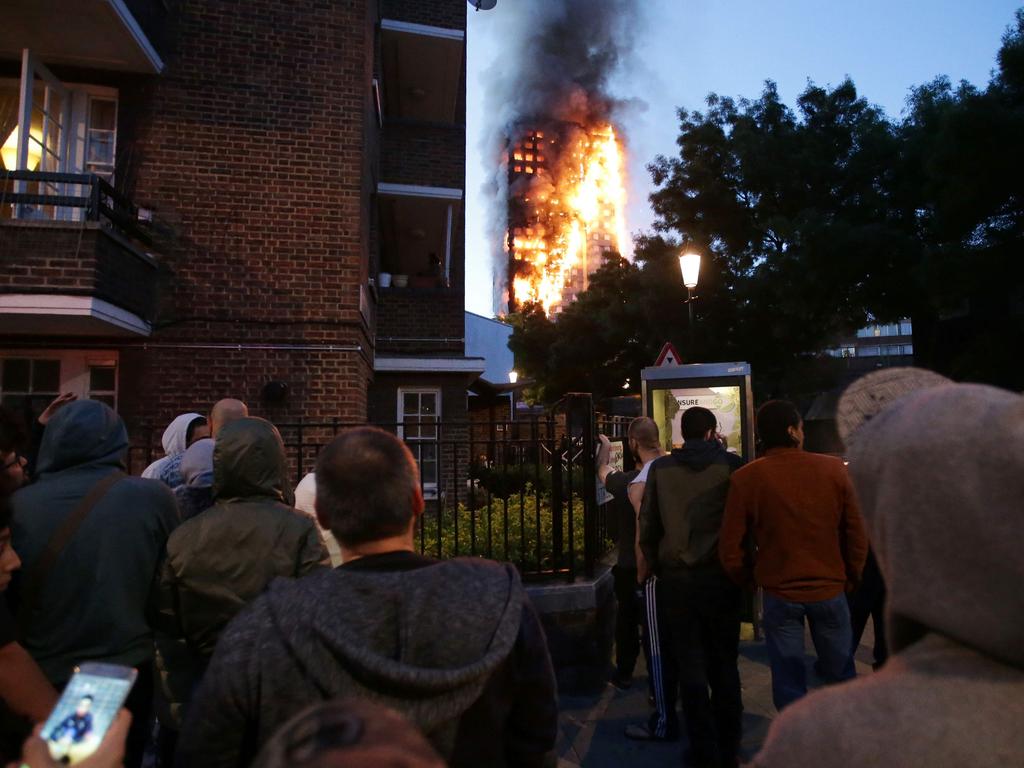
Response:
POLYGON ((419 487, 412 453, 376 427, 345 430, 316 460, 316 511, 344 545, 402 534, 413 519, 419 487))

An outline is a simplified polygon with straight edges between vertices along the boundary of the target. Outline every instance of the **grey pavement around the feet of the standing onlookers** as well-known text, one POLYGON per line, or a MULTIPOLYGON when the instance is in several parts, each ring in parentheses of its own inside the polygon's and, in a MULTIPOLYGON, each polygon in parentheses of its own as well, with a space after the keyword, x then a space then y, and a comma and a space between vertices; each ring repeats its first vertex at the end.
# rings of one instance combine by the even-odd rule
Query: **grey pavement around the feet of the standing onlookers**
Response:
MULTIPOLYGON (((871 674, 871 645, 874 633, 870 622, 864 630, 855 657, 857 674, 871 674)), ((810 634, 805 648, 812 649, 810 634)), ((819 687, 821 681, 813 671, 815 656, 807 654, 808 683, 819 687)), ((739 679, 743 692, 743 740, 740 757, 752 758, 761 748, 768 726, 777 714, 771 699, 771 671, 768 649, 763 641, 744 640, 739 644, 739 679)), ((630 723, 646 723, 650 714, 647 703, 647 670, 643 657, 634 672, 633 685, 618 690, 610 684, 600 693, 590 696, 562 695, 559 699, 558 768, 646 768, 681 764, 686 746, 685 733, 679 741, 657 743, 633 741, 623 735, 630 723)), ((680 715, 682 721, 682 715, 680 715)))

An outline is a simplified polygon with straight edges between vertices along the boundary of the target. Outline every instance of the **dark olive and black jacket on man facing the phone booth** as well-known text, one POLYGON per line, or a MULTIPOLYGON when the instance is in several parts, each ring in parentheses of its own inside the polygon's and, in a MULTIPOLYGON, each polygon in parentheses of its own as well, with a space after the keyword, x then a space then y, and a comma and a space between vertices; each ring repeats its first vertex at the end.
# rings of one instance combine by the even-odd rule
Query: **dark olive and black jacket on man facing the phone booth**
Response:
POLYGON ((743 465, 717 440, 686 440, 647 471, 640 549, 655 570, 715 565, 729 477, 743 465))

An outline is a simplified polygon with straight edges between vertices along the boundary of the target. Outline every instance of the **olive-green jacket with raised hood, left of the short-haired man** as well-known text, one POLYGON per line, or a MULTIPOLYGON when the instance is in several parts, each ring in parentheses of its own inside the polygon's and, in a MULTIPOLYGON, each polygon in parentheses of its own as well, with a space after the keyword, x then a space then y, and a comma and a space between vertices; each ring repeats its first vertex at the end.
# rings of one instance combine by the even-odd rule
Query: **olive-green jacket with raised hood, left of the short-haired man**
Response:
POLYGON ((286 489, 284 446, 272 424, 247 418, 220 431, 215 503, 170 537, 160 578, 157 639, 175 718, 234 614, 275 577, 302 575, 327 558, 316 526, 285 504, 286 489))

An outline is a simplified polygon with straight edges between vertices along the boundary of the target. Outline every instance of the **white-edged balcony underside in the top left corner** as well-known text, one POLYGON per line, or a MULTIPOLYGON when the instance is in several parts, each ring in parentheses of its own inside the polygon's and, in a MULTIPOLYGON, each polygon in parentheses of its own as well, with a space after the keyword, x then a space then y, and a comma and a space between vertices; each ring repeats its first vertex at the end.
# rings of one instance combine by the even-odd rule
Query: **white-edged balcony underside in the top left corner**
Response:
POLYGON ((5 0, 0 59, 31 48, 51 65, 152 75, 164 62, 151 36, 165 24, 161 0, 5 0))

